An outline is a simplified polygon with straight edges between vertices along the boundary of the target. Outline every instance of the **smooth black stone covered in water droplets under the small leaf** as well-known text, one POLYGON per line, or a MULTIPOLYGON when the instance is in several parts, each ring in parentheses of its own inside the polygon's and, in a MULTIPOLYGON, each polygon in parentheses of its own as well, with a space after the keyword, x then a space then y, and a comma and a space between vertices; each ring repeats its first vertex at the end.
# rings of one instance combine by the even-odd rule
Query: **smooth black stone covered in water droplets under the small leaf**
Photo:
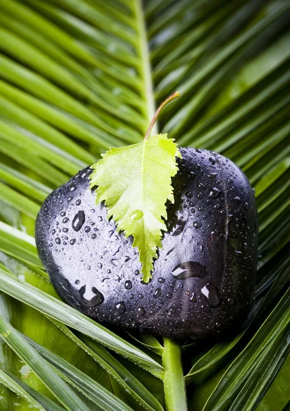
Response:
POLYGON ((254 193, 222 155, 181 153, 168 232, 149 284, 133 239, 117 233, 105 206, 95 205, 90 169, 44 201, 36 243, 66 303, 96 321, 176 338, 218 336, 246 319, 256 271, 254 193))

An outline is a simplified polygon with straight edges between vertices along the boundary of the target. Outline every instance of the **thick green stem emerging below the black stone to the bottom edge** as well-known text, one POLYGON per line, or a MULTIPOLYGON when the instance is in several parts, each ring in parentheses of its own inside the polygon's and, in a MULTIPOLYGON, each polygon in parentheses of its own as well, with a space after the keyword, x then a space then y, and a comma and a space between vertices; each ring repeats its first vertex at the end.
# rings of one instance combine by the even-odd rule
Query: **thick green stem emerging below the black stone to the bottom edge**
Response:
POLYGON ((177 341, 163 338, 162 355, 164 375, 164 393, 167 411, 187 411, 185 379, 181 364, 181 348, 177 341))

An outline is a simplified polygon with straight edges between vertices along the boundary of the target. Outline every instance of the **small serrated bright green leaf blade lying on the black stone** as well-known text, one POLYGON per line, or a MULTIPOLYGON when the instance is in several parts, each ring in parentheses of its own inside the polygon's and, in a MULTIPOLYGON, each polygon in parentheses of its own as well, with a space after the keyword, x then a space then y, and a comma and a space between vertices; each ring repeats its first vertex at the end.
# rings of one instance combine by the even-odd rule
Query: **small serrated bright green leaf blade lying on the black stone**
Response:
POLYGON ((158 134, 136 145, 111 149, 92 166, 90 175, 90 188, 97 186, 96 203, 105 201, 107 218, 113 216, 118 230, 134 237, 146 283, 161 247, 161 230, 166 231, 166 201, 174 201, 171 177, 178 171, 175 157, 181 154, 173 141, 167 134, 158 134))

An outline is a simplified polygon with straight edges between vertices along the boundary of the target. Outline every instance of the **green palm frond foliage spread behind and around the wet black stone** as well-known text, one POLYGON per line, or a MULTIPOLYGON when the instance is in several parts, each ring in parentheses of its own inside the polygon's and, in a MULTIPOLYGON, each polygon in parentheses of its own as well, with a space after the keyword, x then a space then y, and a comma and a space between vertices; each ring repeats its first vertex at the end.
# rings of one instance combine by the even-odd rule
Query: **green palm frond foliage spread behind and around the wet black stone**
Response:
POLYGON ((289 21, 286 0, 0 1, 1 410, 287 410, 289 21), (34 242, 45 197, 176 90, 155 132, 233 160, 259 210, 256 304, 202 345, 66 306, 34 242))

